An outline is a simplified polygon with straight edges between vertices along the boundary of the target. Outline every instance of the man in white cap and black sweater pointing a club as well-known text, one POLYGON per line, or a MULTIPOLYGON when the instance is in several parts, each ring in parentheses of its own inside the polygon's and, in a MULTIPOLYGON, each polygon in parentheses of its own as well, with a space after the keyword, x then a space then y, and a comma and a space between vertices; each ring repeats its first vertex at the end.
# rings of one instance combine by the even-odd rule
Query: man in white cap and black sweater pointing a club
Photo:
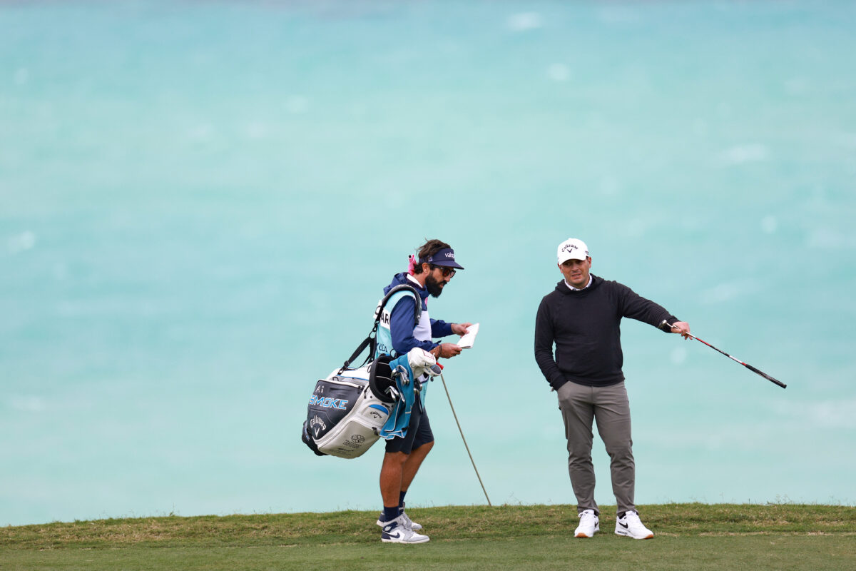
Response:
POLYGON ((667 332, 690 326, 663 307, 617 282, 594 276, 591 256, 583 241, 570 238, 559 244, 561 282, 544 296, 535 320, 535 360, 556 390, 568 438, 568 474, 580 526, 578 538, 600 530, 600 512, 594 501, 591 464, 592 421, 609 453, 612 491, 618 506, 615 533, 635 539, 654 534, 639 520, 633 503, 635 464, 630 435, 630 405, 621 372, 621 318, 633 318, 667 332), (556 347, 554 356, 553 347, 556 347))

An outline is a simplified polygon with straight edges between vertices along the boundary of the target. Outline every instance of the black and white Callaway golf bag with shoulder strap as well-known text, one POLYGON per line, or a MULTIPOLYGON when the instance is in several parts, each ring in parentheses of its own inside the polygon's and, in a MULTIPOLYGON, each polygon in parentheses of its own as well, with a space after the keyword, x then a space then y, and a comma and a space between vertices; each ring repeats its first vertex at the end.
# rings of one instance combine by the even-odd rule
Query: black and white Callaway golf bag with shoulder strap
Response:
POLYGON ((414 313, 419 322, 422 300, 416 290, 406 285, 390 289, 377 304, 374 327, 369 336, 342 368, 315 384, 315 390, 309 397, 301 440, 316 455, 356 458, 380 437, 380 430, 399 395, 389 368, 389 361, 393 358, 386 354, 375 358, 377 326, 386 302, 402 290, 409 290, 415 296, 414 313), (369 348, 366 361, 358 368, 351 368, 351 363, 366 348, 369 348))

